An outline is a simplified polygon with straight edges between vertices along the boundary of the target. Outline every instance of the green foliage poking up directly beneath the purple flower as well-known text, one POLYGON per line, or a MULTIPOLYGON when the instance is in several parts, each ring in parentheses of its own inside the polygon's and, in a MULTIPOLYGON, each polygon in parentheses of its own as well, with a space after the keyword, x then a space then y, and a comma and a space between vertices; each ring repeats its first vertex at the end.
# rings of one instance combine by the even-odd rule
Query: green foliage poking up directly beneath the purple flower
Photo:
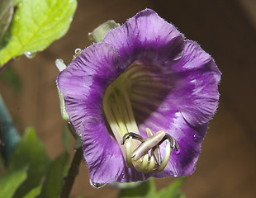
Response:
POLYGON ((155 190, 154 179, 149 178, 141 182, 138 186, 122 189, 119 198, 185 198, 181 191, 184 178, 180 177, 173 181, 168 187, 157 192, 155 190))

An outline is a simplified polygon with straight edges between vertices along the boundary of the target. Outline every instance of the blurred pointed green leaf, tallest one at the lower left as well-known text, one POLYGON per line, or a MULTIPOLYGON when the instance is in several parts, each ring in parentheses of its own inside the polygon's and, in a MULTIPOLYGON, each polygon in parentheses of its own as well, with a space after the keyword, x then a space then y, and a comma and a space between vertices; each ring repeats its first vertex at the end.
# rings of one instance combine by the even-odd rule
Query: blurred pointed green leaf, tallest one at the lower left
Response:
POLYGON ((39 186, 42 177, 47 172, 50 158, 45 152, 45 146, 36 137, 33 128, 28 128, 17 144, 9 163, 9 170, 29 166, 27 179, 18 188, 14 197, 25 196, 32 188, 39 186))

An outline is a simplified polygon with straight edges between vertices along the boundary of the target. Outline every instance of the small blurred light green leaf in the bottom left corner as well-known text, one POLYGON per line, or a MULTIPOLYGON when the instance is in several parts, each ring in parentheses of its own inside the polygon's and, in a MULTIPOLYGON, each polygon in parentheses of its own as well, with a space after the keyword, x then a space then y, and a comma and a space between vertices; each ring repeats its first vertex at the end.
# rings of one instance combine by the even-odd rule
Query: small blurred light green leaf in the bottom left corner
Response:
POLYGON ((17 170, 15 172, 8 172, 0 178, 0 197, 12 197, 17 187, 26 180, 26 168, 17 170))

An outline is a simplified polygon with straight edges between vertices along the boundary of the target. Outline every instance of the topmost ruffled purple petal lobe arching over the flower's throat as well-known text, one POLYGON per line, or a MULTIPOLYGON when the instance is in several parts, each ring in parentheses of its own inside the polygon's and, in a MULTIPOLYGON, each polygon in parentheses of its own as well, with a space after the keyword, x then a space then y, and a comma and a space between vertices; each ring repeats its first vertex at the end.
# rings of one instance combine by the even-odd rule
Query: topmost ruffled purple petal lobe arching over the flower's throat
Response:
POLYGON ((128 64, 143 59, 147 64, 168 65, 178 59, 183 50, 183 35, 150 9, 109 31, 103 42, 113 45, 128 64))

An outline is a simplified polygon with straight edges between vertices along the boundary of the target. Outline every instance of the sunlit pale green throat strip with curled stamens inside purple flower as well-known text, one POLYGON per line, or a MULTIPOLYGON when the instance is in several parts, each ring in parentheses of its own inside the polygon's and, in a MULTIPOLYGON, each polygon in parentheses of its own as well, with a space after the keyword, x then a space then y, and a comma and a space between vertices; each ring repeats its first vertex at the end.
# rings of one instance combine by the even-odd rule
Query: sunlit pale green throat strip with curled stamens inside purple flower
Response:
MULTIPOLYGON (((130 102, 132 78, 145 78, 145 86, 152 85, 152 77, 144 66, 131 65, 125 73, 107 87, 103 97, 103 112, 111 132, 120 145, 128 167, 135 167, 138 172, 161 172, 166 167, 171 154, 171 148, 178 150, 176 140, 163 130, 153 133, 145 129, 147 138, 140 135, 135 115, 130 102), (166 140, 164 158, 161 158, 159 145, 166 140)), ((140 79, 141 79, 140 78, 140 79)))

